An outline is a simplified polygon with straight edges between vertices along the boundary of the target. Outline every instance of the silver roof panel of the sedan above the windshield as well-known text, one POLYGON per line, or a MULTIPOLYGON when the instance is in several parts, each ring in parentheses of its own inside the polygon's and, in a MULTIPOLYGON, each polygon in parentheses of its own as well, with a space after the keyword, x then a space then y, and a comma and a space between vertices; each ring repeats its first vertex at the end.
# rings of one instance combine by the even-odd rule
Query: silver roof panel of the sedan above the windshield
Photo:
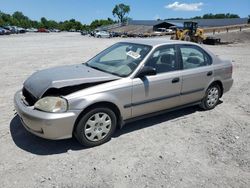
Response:
POLYGON ((143 44, 143 45, 149 45, 149 46, 161 46, 165 44, 193 44, 197 45, 193 42, 186 42, 186 41, 178 41, 178 40, 169 40, 164 38, 150 38, 150 39, 127 39, 122 42, 130 42, 130 43, 136 43, 136 44, 143 44))

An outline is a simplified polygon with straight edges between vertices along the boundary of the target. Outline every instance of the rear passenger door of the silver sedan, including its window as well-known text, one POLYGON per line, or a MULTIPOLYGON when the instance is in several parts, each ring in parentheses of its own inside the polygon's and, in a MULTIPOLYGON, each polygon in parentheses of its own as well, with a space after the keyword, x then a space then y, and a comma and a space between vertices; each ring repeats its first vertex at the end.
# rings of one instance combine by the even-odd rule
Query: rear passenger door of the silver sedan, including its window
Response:
POLYGON ((181 64, 181 103, 200 101, 213 79, 212 58, 202 48, 192 44, 178 46, 181 64))

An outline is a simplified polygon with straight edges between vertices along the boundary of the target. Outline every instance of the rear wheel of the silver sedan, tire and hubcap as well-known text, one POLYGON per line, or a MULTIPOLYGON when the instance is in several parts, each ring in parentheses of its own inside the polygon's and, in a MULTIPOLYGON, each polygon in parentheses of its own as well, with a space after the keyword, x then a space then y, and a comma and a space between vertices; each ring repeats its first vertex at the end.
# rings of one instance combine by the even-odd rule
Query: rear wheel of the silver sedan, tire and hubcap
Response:
POLYGON ((219 102, 221 88, 217 84, 208 87, 205 97, 202 99, 200 107, 204 110, 213 109, 219 102))

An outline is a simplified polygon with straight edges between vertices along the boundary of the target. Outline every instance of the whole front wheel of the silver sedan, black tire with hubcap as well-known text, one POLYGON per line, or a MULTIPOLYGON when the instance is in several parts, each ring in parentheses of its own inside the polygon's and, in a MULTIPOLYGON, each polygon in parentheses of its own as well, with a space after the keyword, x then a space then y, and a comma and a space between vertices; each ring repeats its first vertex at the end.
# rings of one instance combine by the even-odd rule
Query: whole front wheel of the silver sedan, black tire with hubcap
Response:
POLYGON ((105 107, 97 107, 88 111, 78 122, 75 137, 80 144, 93 147, 110 140, 116 129, 115 113, 105 107))

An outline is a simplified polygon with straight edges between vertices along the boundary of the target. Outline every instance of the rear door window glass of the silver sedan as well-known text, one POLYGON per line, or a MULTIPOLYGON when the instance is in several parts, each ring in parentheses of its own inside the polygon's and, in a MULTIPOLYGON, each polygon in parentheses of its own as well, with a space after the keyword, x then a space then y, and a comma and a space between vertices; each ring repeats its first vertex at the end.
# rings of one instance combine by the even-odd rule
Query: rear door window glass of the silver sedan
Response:
POLYGON ((180 47, 183 69, 192 69, 212 64, 210 56, 197 46, 180 47))

